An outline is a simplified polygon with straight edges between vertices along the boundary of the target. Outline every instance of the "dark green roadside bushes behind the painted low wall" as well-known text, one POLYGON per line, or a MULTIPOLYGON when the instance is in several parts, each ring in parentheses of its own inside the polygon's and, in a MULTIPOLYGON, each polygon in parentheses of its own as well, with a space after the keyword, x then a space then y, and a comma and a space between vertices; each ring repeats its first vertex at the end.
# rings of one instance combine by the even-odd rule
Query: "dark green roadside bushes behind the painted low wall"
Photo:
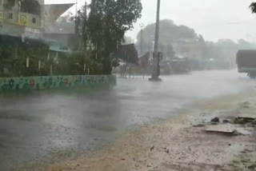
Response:
POLYGON ((57 53, 42 42, 0 36, 0 77, 102 74, 88 56, 85 51, 57 53))

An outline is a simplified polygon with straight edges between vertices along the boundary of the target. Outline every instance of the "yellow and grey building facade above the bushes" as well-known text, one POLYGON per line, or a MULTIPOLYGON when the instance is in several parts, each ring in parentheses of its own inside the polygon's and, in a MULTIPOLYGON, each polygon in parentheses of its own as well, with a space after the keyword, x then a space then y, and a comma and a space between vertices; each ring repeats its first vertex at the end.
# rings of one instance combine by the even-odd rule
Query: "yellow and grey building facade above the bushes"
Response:
POLYGON ((40 38, 44 30, 44 0, 0 0, 0 34, 40 38))

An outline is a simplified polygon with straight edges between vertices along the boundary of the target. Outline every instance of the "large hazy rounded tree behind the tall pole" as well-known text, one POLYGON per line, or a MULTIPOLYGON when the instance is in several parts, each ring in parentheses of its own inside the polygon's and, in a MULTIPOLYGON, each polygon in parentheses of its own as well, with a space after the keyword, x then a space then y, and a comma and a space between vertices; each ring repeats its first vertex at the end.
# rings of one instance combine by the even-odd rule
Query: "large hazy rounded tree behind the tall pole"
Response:
MULTIPOLYGON (((136 43, 139 54, 153 50, 154 46, 154 30, 155 23, 146 26, 141 32, 138 33, 136 43), (142 40, 141 40, 142 38, 142 40), (142 52, 141 51, 142 42, 142 52)), ((187 26, 177 26, 171 20, 160 21, 159 32, 159 50, 162 52, 164 58, 173 58, 174 51, 176 54, 186 54, 188 42, 198 42, 198 34, 187 26)))

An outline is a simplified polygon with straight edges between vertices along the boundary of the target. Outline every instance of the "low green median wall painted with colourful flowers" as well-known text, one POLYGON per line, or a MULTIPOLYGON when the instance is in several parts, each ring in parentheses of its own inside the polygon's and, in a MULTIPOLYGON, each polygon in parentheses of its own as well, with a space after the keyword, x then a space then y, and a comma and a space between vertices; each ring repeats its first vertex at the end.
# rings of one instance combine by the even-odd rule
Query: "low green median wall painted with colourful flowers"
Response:
POLYGON ((28 89, 71 89, 90 85, 115 85, 114 75, 42 76, 0 78, 0 92, 28 89))

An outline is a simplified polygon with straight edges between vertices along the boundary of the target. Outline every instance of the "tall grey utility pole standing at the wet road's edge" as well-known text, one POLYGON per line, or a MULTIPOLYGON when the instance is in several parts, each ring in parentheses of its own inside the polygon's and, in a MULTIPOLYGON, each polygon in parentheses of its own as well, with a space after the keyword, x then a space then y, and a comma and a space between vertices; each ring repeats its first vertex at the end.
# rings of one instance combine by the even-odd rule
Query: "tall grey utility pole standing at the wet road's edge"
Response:
POLYGON ((160 0, 158 0, 157 21, 156 21, 156 24, 155 24, 153 74, 152 74, 152 78, 150 78, 150 81, 153 81, 153 82, 161 81, 161 79, 159 78, 160 66, 159 66, 159 56, 158 56, 159 20, 160 20, 160 0))

